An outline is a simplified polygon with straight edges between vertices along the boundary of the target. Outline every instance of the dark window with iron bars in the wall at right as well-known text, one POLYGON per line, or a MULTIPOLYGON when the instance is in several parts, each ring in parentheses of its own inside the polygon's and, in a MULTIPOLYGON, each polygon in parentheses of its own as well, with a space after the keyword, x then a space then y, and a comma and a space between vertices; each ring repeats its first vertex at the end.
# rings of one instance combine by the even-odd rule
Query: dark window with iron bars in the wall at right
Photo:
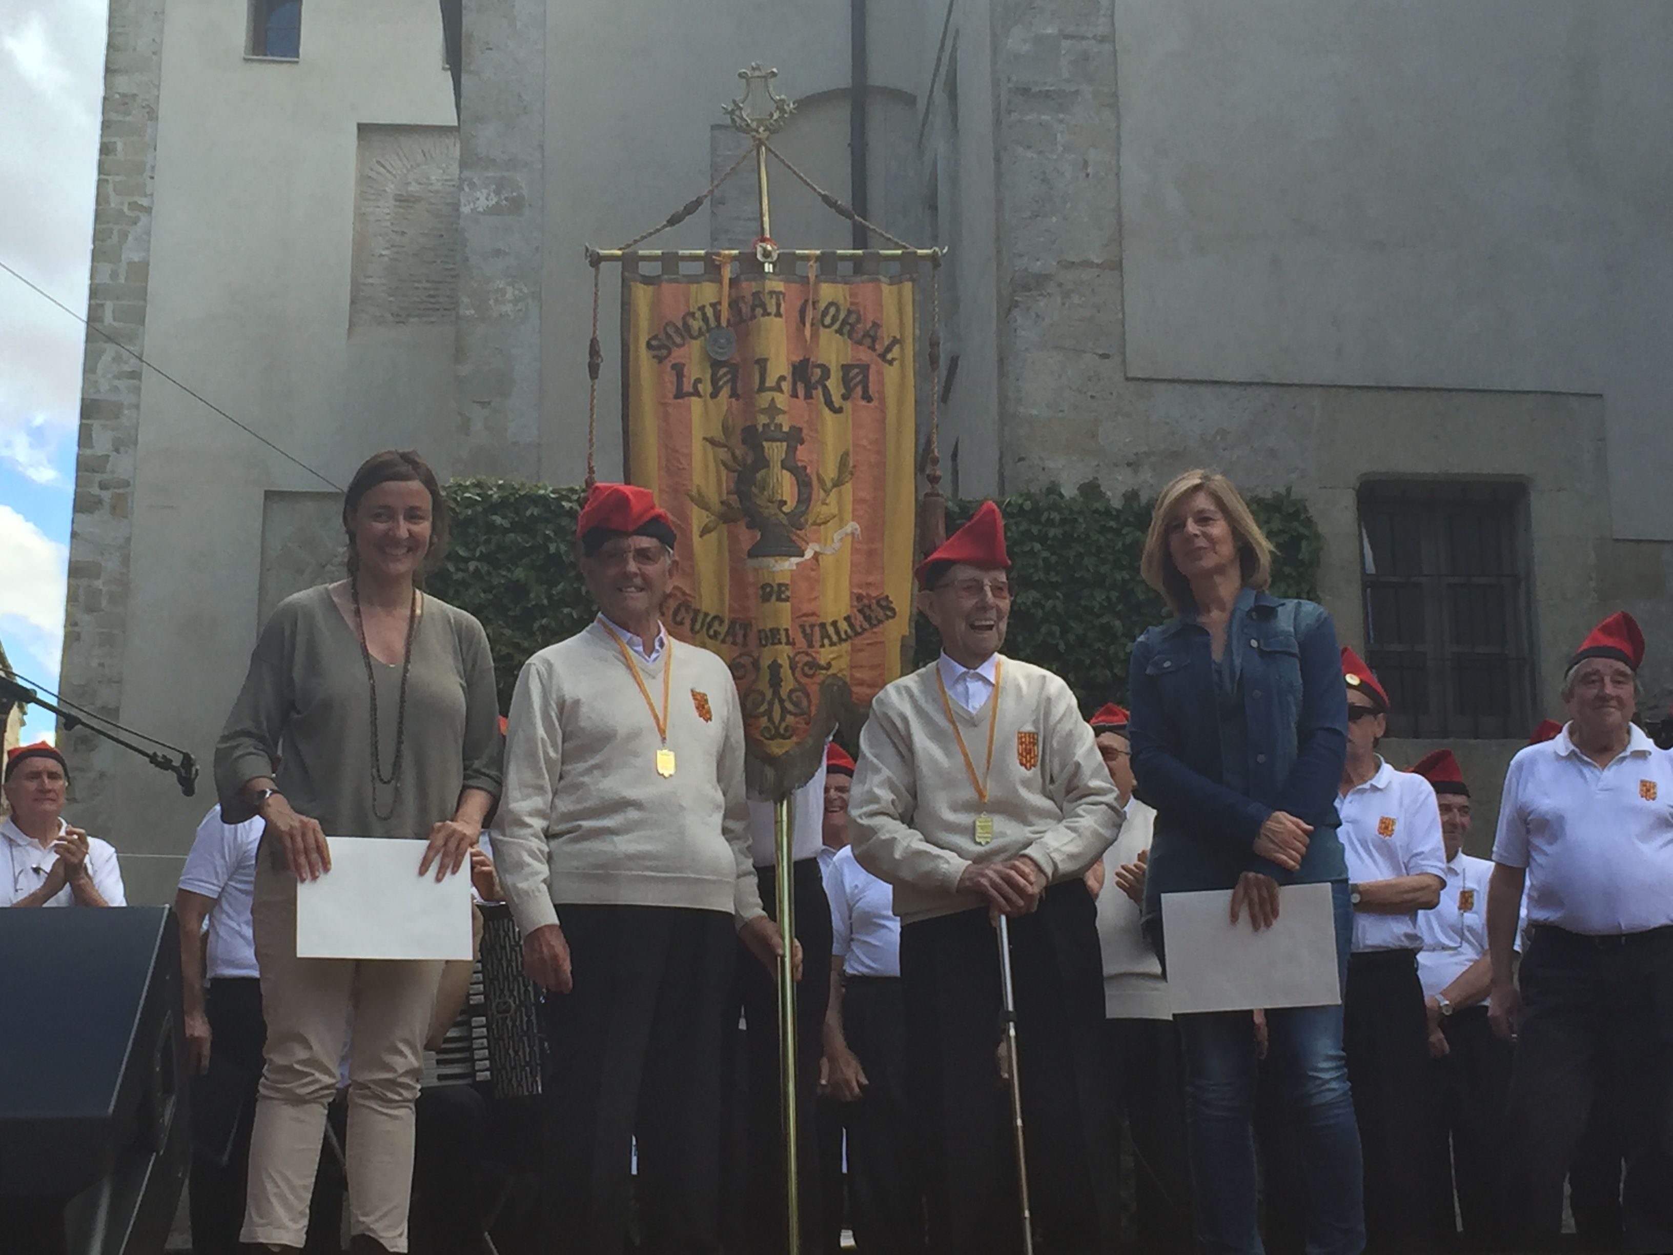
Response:
POLYGON ((1358 490, 1365 661, 1390 736, 1524 736, 1532 709, 1526 492, 1499 482, 1358 490))

